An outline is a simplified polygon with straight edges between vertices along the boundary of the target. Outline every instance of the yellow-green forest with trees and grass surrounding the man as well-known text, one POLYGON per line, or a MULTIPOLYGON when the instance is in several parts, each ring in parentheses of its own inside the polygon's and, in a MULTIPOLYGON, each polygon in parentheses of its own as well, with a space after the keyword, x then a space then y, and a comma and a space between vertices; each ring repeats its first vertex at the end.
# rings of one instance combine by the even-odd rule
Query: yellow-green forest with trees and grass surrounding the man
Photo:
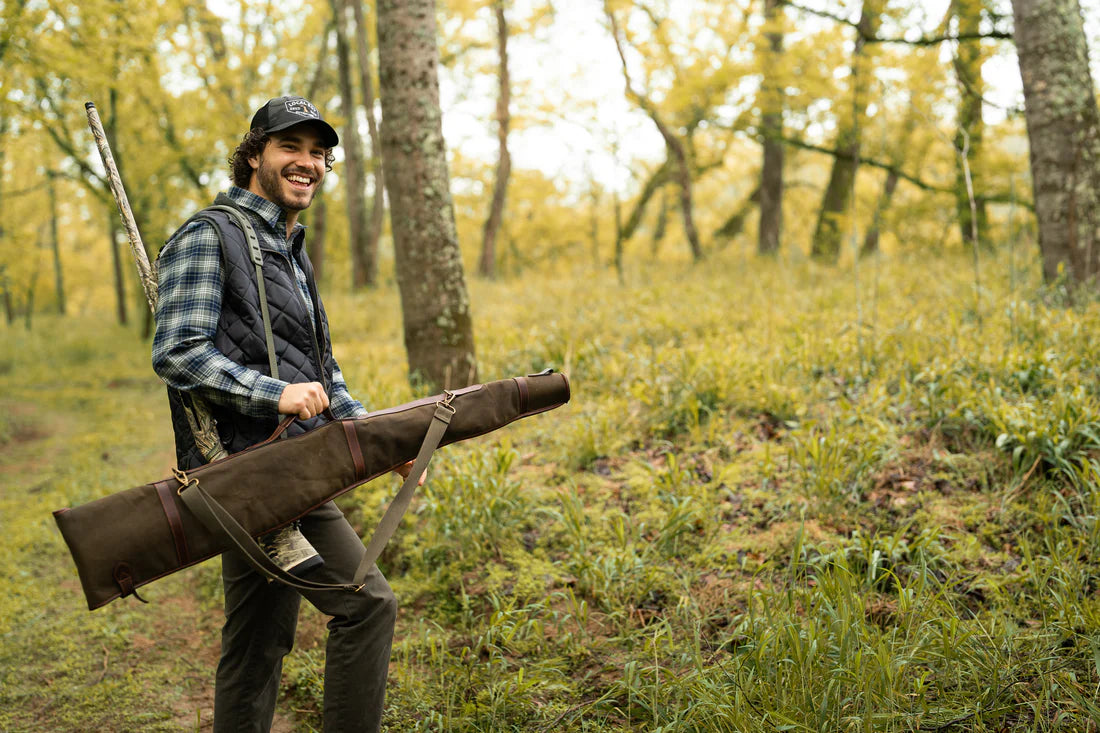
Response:
POLYGON ((301 95, 352 394, 572 387, 432 460, 383 730, 1097 731, 1098 58, 1096 0, 0 0, 0 730, 212 730, 219 561, 89 612, 52 513, 172 475, 135 262, 301 95))

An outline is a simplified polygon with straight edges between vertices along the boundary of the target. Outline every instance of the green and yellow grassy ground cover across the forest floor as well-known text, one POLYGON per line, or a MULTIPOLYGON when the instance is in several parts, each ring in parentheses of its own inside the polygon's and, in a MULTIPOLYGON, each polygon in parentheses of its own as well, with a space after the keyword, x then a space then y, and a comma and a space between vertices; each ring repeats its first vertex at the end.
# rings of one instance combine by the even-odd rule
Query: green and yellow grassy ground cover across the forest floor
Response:
MULTIPOLYGON (((482 379, 557 366, 573 401, 433 462, 380 561, 387 729, 1096 730, 1100 309, 985 267, 474 283, 482 379)), ((375 407, 414 396, 396 300, 328 299, 375 407)), ((147 347, 42 325, 0 358, 0 729, 208 726, 217 564, 89 614, 50 517, 166 473, 147 347)), ((304 610, 283 730, 322 669, 304 610)))

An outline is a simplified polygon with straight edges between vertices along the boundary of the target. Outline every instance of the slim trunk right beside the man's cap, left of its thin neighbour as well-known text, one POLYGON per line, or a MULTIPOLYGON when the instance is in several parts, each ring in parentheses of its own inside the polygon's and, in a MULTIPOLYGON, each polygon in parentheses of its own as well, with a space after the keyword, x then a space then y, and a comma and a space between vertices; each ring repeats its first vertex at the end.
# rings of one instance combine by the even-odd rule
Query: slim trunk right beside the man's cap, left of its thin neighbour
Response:
MULTIPOLYGON (((346 0, 354 3, 358 0, 346 0)), ((373 287, 377 277, 376 253, 367 242, 366 200, 363 184, 363 153, 359 136, 355 94, 351 80, 351 46, 348 45, 348 13, 345 0, 332 0, 337 29, 337 61, 340 67, 340 106, 344 129, 341 143, 344 149, 344 176, 348 197, 348 244, 351 249, 351 286, 353 289, 373 287)))

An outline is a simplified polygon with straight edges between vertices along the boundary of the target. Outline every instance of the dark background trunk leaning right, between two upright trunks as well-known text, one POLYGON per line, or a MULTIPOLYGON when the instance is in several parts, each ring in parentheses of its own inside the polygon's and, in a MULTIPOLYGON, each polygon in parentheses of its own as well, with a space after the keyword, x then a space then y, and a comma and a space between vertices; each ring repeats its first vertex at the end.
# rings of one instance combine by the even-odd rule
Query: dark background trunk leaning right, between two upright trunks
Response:
POLYGON ((840 123, 836 139, 836 156, 829 174, 822 208, 817 215, 817 227, 811 253, 825 262, 836 262, 840 256, 840 217, 847 211, 859 167, 860 119, 867 113, 868 89, 871 72, 862 63, 866 39, 873 36, 879 25, 879 7, 882 0, 864 0, 859 18, 859 35, 853 52, 851 64, 851 119, 840 123))

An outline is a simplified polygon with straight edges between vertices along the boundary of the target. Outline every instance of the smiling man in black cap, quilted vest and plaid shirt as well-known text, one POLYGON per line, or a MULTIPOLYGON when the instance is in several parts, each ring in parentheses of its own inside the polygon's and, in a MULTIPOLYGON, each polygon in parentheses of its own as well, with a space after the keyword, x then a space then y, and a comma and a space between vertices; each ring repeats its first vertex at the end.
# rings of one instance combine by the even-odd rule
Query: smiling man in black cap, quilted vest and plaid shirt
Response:
MULTIPOLYGON (((193 218, 158 259, 153 368, 169 386, 184 470, 202 462, 182 408, 188 395, 211 405, 230 453, 266 438, 282 415, 298 416, 300 423, 289 430, 294 434, 327 422, 326 409, 337 418, 366 414, 332 358, 328 319, 304 248, 305 227, 298 222, 331 169, 339 138, 300 97, 270 100, 250 127, 230 158, 234 185, 216 203, 240 209, 255 229, 271 338, 255 264, 243 232, 228 215, 193 218), (270 373, 268 342, 275 347, 278 374, 270 373)), ((301 519, 300 530, 323 558, 321 567, 302 577, 346 582, 364 550, 340 510, 326 504, 301 519)), ((215 731, 271 727, 283 657, 294 644, 299 594, 332 617, 324 730, 378 730, 397 604, 377 567, 356 592, 296 591, 268 582, 232 550, 222 556, 222 584, 226 622, 215 731)))

